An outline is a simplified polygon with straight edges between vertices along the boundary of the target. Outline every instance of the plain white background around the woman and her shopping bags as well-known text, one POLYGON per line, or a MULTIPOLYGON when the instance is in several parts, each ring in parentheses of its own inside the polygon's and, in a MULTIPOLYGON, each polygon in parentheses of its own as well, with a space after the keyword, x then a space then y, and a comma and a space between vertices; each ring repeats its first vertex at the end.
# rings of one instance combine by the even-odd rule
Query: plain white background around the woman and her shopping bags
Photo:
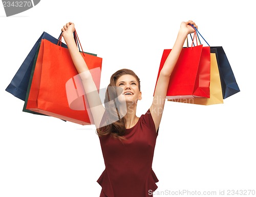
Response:
POLYGON ((83 50, 103 58, 101 88, 121 68, 140 77, 138 116, 150 107, 162 52, 181 21, 194 20, 210 45, 223 46, 241 92, 212 106, 166 102, 156 191, 256 190, 253 2, 41 0, 11 17, 0 7, 0 196, 99 196, 104 162, 94 126, 22 112, 24 102, 5 91, 41 33, 58 37, 69 21, 83 50))

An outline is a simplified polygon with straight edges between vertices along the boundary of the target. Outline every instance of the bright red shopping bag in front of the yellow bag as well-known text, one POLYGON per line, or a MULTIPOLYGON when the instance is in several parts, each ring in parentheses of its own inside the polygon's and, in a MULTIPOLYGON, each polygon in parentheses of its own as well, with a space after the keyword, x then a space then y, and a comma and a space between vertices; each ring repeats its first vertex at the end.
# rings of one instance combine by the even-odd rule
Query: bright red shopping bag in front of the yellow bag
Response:
MULTIPOLYGON (((194 34, 195 38, 196 33, 194 34)), ((194 39, 193 39, 194 43, 194 39)), ((172 50, 164 50, 160 71, 172 50)), ((189 99, 210 96, 210 47, 196 45, 183 47, 169 79, 166 99, 189 99)))

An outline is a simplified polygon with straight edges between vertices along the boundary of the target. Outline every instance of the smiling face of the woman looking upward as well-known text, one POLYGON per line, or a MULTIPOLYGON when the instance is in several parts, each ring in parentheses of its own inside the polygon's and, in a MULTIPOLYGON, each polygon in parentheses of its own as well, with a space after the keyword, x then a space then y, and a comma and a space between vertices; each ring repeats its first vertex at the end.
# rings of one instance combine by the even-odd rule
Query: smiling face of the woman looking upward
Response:
POLYGON ((119 102, 125 100, 127 104, 131 105, 137 104, 137 101, 142 99, 139 83, 134 76, 122 75, 116 81, 116 86, 117 94, 120 95, 118 96, 119 102))

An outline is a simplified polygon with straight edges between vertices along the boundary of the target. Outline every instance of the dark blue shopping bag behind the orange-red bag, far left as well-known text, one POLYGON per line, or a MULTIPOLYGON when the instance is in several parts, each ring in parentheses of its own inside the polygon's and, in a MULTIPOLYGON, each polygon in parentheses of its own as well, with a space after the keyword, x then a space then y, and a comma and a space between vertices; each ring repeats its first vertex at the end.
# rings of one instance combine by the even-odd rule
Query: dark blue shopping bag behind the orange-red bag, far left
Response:
MULTIPOLYGON (((35 42, 28 56, 25 58, 22 65, 17 70, 10 84, 7 86, 6 91, 13 94, 18 99, 25 101, 28 83, 31 75, 31 69, 35 59, 36 50, 41 39, 47 39, 52 43, 57 44, 58 39, 54 38, 50 34, 43 32, 38 40, 35 42)), ((67 47, 66 44, 61 43, 62 47, 67 47)))

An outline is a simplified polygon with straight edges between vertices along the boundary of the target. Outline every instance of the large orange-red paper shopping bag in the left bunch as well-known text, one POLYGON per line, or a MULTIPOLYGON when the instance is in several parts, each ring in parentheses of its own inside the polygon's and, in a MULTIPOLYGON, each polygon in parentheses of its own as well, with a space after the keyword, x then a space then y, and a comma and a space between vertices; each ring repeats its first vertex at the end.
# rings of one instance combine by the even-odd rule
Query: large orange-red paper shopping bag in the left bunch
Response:
MULTIPOLYGON (((83 52, 80 53, 89 69, 99 68, 101 70, 102 58, 83 52)), ((77 75, 78 72, 68 48, 53 44, 48 40, 42 40, 26 109, 80 125, 93 124, 84 92, 81 93, 81 90, 77 90, 79 94, 75 95, 80 101, 79 103, 81 104, 82 102, 84 106, 79 107, 79 110, 71 109, 68 101, 69 96, 67 93, 71 91, 67 92, 66 84, 77 75)), ((100 72, 92 76, 99 90, 100 72)), ((77 88, 75 81, 77 79, 74 80, 74 89, 77 88)), ((81 82, 79 84, 81 89, 81 82)))

